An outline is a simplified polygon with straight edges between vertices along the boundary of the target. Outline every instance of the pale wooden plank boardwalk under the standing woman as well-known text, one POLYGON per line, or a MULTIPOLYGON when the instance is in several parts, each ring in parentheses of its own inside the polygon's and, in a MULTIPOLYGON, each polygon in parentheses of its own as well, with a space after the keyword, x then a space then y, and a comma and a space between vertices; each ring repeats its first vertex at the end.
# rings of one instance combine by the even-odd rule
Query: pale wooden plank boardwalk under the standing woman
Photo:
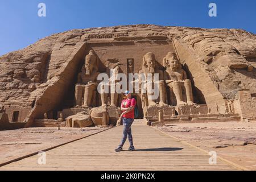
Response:
POLYGON ((136 151, 114 152, 122 126, 46 152, 46 164, 34 155, 0 167, 1 170, 237 170, 222 160, 210 165, 209 155, 142 122, 132 126, 136 151))

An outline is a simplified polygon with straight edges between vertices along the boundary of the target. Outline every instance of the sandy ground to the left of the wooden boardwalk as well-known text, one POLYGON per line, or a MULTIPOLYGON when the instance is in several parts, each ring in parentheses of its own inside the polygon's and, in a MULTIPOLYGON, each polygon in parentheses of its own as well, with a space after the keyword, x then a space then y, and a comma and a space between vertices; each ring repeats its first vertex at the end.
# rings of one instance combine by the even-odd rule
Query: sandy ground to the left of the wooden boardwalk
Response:
POLYGON ((36 127, 0 131, 0 164, 33 152, 105 130, 101 127, 68 128, 36 127))

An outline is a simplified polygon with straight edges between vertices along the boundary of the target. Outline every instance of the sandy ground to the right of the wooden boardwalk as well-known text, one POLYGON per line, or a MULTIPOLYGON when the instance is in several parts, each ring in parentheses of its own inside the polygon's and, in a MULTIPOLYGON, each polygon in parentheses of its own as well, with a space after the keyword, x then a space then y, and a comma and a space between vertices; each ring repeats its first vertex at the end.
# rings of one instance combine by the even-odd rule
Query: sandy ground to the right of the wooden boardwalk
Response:
POLYGON ((256 122, 177 123, 157 127, 247 169, 256 170, 256 122))

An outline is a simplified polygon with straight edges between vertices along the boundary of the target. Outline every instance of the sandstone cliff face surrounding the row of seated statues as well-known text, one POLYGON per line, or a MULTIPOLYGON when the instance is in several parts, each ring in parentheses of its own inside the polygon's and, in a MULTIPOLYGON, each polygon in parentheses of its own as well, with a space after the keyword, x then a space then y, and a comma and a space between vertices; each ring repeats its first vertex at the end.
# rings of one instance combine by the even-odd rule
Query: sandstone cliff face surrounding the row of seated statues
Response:
MULTIPOLYGON (((0 57, 0 105, 5 106, 9 121, 31 126, 44 113, 55 115, 72 107, 77 74, 91 49, 100 60, 100 72, 106 71, 108 60, 118 59, 125 74, 141 71, 147 52, 155 54, 159 69, 164 70, 163 57, 175 52, 191 80, 194 101, 207 104, 212 113, 217 113, 216 104, 225 113, 232 102, 232 111, 242 114, 246 106, 240 108, 239 92, 243 89, 249 89, 249 100, 255 98, 254 34, 150 24, 87 28, 54 34, 0 57), (126 69, 132 62, 132 69, 126 69)), ((248 102, 254 108, 255 102, 248 102)))

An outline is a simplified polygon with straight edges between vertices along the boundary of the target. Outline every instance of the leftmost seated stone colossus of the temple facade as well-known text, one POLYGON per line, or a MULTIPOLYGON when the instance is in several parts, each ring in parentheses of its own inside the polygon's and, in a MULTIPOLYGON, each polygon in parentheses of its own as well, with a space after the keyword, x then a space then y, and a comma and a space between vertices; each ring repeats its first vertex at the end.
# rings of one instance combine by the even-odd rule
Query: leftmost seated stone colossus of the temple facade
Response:
POLYGON ((93 51, 85 57, 85 65, 77 78, 75 90, 76 106, 90 107, 92 104, 93 92, 97 90, 98 60, 93 51), (84 94, 84 104, 82 105, 82 95, 84 94))

